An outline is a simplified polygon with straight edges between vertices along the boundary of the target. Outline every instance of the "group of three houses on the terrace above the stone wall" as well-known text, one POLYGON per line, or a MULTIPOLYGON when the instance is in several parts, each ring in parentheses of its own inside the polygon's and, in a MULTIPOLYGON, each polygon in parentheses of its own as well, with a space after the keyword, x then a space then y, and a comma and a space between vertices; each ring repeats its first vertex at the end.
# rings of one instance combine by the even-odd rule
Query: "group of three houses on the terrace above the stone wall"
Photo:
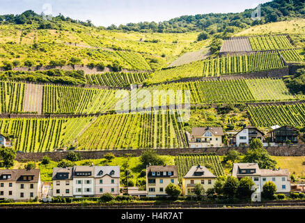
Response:
POLYGON ((252 139, 260 139, 263 146, 279 146, 279 144, 298 143, 299 130, 288 125, 272 126, 272 130, 265 134, 254 126, 244 126, 242 130, 226 132, 227 144, 224 143, 224 130, 222 128, 192 128, 191 133, 186 132, 190 148, 210 148, 223 146, 249 146, 252 139))

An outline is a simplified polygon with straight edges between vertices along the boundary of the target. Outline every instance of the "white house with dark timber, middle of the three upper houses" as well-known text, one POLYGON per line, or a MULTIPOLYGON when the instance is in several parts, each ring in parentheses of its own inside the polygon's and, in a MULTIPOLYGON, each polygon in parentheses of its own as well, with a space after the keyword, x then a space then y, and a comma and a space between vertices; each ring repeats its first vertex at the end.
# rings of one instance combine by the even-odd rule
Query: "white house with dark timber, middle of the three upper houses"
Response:
POLYGON ((233 137, 231 137, 230 144, 235 146, 249 146, 252 139, 260 139, 263 144, 263 136, 263 132, 249 125, 240 130, 240 132, 237 132, 237 134, 235 134, 233 137))

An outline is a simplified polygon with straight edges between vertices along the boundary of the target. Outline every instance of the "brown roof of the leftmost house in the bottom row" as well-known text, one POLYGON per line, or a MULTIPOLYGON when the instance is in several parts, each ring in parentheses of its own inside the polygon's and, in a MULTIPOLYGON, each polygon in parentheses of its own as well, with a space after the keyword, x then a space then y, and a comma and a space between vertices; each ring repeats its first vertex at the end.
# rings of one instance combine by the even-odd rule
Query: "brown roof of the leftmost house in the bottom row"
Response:
POLYGON ((10 174, 11 178, 0 181, 16 181, 17 183, 37 183, 40 178, 40 169, 0 169, 0 176, 10 174), (22 176, 33 176, 33 180, 23 180, 22 176))

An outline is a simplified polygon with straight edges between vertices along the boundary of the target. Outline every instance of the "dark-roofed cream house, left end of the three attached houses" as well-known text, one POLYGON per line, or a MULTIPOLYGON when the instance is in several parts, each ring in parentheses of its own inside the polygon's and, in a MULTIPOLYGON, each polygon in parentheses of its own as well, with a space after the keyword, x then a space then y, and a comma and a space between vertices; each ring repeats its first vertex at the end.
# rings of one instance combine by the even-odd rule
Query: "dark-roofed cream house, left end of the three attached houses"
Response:
POLYGON ((73 196, 73 167, 54 167, 52 182, 53 182, 53 197, 72 197, 73 196))

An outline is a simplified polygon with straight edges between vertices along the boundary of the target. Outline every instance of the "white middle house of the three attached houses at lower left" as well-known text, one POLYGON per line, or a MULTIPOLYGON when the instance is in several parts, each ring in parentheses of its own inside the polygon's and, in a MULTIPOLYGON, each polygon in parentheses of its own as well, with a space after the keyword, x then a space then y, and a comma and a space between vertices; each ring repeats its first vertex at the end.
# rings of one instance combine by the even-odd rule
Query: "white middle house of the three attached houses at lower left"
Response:
POLYGON ((73 197, 93 197, 95 194, 93 166, 76 166, 73 169, 73 197))

